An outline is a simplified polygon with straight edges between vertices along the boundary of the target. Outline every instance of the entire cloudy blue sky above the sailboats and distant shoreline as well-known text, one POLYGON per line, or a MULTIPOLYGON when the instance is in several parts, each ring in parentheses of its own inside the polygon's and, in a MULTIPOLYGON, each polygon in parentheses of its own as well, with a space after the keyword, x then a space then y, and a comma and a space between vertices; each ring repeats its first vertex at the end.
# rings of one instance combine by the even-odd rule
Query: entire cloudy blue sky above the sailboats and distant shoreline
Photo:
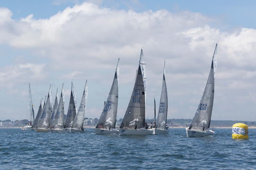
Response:
MULTIPOLYGON (((0 120, 37 113, 52 86, 71 81, 85 117, 99 118, 120 57, 117 118, 123 118, 143 48, 146 118, 160 100, 164 59, 167 118, 193 118, 218 62, 212 120, 256 121, 256 1, 0 1, 0 120)), ((59 94, 60 96, 60 94, 59 94)), ((157 104, 158 105, 158 104, 157 104)))

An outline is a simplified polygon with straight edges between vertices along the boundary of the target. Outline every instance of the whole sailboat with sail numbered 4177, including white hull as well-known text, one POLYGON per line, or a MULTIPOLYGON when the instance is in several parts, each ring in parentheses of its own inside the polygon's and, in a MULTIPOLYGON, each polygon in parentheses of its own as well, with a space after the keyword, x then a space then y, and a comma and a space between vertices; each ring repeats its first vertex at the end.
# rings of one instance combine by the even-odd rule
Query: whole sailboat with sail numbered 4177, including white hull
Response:
POLYGON ((96 134, 119 134, 116 127, 116 114, 118 105, 118 80, 119 80, 119 58, 116 65, 116 72, 110 88, 107 101, 96 125, 96 134))

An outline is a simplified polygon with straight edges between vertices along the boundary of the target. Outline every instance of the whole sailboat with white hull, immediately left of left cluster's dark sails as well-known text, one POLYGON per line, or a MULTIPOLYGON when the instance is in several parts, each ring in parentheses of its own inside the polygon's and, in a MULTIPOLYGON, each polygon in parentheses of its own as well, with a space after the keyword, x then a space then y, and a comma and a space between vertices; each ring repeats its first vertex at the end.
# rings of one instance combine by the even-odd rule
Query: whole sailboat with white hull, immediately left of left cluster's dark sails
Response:
POLYGON ((62 132, 63 124, 64 124, 64 89, 63 84, 61 88, 60 101, 56 110, 56 114, 52 120, 52 124, 50 127, 50 132, 62 132))

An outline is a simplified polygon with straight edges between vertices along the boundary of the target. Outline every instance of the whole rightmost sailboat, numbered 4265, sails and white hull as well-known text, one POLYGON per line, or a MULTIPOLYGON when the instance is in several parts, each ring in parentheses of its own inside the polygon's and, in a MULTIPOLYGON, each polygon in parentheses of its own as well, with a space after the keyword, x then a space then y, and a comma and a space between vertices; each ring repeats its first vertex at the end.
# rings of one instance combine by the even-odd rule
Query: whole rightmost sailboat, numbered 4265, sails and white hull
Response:
POLYGON ((212 117, 212 106, 214 98, 214 80, 217 65, 217 44, 212 57, 212 64, 208 80, 204 89, 203 96, 200 100, 196 114, 192 121, 187 124, 187 137, 205 137, 213 136, 214 131, 210 130, 210 123, 212 117), (188 127, 189 125, 189 127, 188 127))

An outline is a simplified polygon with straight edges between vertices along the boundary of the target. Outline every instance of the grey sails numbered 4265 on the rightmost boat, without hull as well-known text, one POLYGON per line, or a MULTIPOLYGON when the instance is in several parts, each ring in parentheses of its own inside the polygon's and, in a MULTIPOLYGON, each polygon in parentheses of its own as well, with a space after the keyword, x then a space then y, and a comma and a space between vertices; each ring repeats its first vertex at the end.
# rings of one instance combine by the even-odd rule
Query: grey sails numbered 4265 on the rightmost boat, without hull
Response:
POLYGON ((214 77, 215 77, 214 72, 216 73, 216 64, 217 64, 217 44, 215 46, 211 69, 210 69, 208 80, 204 89, 203 96, 196 110, 196 114, 193 117, 192 122, 190 123, 190 126, 188 129, 198 129, 198 130, 204 131, 210 128, 213 98, 214 98, 214 77))

